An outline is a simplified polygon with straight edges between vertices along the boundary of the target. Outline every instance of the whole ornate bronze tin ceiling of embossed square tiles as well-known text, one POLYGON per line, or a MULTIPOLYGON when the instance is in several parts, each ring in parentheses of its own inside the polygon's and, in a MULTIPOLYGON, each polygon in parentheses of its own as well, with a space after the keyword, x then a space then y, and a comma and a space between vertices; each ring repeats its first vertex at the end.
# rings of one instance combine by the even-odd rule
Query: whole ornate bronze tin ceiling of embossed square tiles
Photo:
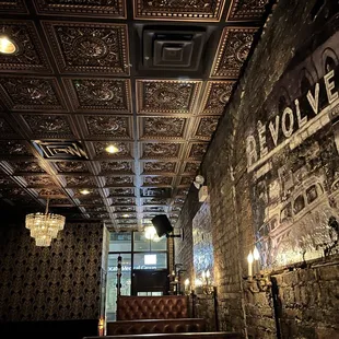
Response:
POLYGON ((2 213, 175 225, 267 2, 0 1, 2 213))

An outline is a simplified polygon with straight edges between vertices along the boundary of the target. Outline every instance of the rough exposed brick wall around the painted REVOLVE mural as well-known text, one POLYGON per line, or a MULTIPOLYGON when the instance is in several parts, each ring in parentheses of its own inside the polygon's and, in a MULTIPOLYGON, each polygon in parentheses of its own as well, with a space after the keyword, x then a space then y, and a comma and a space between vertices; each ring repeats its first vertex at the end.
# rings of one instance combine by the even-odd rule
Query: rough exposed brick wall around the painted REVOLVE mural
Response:
MULTIPOLYGON (((339 274, 338 264, 334 257, 327 259, 327 262, 331 262, 330 268, 319 266, 274 274, 277 301, 281 303, 276 312, 271 290, 253 292, 245 279, 247 276, 246 257, 257 239, 255 226, 262 223, 264 218, 258 211, 264 211, 268 206, 267 202, 260 200, 258 190, 254 189, 256 178, 247 172, 248 129, 256 129, 259 119, 267 121, 270 114, 267 109, 271 107, 264 106, 264 103, 269 103, 270 94, 274 93, 274 87, 284 73, 289 72, 295 62, 302 62, 313 52, 316 44, 319 44, 317 33, 338 11, 338 4, 327 1, 318 15, 315 15, 317 14, 314 11, 316 2, 315 0, 281 0, 274 7, 264 33, 257 36, 258 43, 255 50, 225 108, 201 165, 200 172, 206 177, 210 192, 220 329, 243 331, 248 338, 338 337, 339 305, 336 284, 338 284, 339 274), (309 45, 301 48, 307 40, 311 42, 309 45), (293 61, 291 66, 291 60, 296 61, 293 61), (324 311, 319 312, 320 307, 324 311)), ((301 75, 293 75, 292 71, 287 89, 291 93, 296 93, 299 89, 293 86, 299 86, 301 75)), ((318 77, 322 77, 319 72, 318 77)), ((317 80, 311 83, 312 93, 314 93, 314 83, 317 80)), ((294 98, 294 96, 290 97, 292 103, 294 98)), ((323 98, 320 97, 320 101, 323 98)), ((319 124, 323 122, 319 121, 319 124)), ((331 128, 317 135, 316 142, 322 143, 323 140, 328 140, 330 133, 331 128)), ((296 160, 299 156, 304 156, 301 152, 299 153, 297 148, 293 154, 296 160)), ((277 153, 277 156, 282 155, 277 153)), ((287 163, 291 162, 292 155, 290 156, 289 149, 283 156, 287 163)), ((338 154, 330 156, 338 157, 338 154)), ((331 173, 331 170, 328 170, 332 166, 331 161, 329 157, 322 156, 319 166, 326 168, 327 175, 331 173)), ((277 171, 273 163, 272 168, 277 171)), ((288 199, 288 195, 289 192, 282 198, 280 194, 279 199, 288 199)), ((176 241, 175 244, 176 261, 185 265, 189 272, 188 277, 191 277, 194 271, 191 220, 199 207, 197 190, 191 187, 176 224, 185 229, 185 241, 183 243, 176 241)), ((312 255, 312 250, 308 253, 312 255)), ((272 269, 268 268, 266 272, 270 273, 272 269)), ((201 297, 199 312, 209 309, 208 303, 208 300, 203 301, 201 297)), ((210 316, 208 319, 212 328, 213 317, 210 316)))

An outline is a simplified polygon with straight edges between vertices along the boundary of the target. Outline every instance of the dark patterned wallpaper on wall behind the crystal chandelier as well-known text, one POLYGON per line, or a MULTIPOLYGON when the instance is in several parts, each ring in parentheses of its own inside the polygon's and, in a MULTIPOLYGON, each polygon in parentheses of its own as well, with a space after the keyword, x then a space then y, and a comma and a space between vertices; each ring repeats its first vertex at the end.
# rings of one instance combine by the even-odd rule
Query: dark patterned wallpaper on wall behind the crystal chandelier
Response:
POLYGON ((50 247, 0 229, 0 322, 97 319, 103 225, 67 224, 50 247))

